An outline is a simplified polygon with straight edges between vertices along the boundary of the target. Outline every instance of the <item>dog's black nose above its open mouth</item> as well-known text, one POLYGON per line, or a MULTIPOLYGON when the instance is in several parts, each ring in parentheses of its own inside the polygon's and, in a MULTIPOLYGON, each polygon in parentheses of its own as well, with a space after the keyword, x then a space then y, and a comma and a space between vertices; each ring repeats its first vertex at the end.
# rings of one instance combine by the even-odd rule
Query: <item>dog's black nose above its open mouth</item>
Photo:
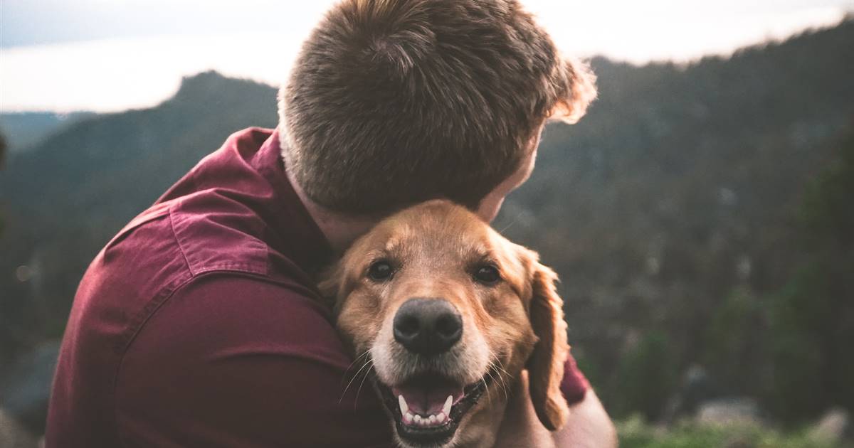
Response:
POLYGON ((410 299, 395 314, 395 340, 421 355, 447 352, 463 335, 463 319, 442 299, 410 299))

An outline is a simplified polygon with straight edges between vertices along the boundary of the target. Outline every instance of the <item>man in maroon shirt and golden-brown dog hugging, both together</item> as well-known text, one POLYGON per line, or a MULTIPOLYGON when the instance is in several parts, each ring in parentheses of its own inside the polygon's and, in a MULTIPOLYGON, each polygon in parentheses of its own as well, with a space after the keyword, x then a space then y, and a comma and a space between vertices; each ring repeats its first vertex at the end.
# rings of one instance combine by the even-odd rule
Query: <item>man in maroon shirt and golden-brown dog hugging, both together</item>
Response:
POLYGON ((46 446, 616 445, 556 276, 488 226, 595 96, 515 0, 337 3, 278 128, 92 261, 46 446))

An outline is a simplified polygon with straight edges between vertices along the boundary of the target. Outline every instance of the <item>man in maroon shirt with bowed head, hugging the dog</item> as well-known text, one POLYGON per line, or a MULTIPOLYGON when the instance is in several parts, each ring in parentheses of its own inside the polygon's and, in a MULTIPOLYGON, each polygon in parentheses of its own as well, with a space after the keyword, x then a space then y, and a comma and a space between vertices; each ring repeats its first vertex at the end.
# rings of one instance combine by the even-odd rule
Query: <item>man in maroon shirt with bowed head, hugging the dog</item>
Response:
MULTIPOLYGON (((278 131, 232 135, 92 262, 47 446, 390 445, 371 391, 343 393, 354 360, 314 276, 419 201, 494 218, 545 120, 594 89, 515 1, 345 0, 280 96, 278 131)), ((570 360, 556 437, 613 445, 587 388, 570 360)))

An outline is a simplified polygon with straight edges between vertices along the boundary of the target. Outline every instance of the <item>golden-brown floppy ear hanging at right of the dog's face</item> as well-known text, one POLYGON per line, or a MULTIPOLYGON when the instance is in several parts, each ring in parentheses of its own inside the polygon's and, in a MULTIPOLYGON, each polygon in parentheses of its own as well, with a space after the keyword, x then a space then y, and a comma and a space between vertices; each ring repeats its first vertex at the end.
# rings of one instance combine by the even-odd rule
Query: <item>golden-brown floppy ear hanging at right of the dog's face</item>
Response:
POLYGON ((554 271, 537 262, 532 269, 530 321, 538 340, 528 359, 529 390, 536 415, 543 426, 555 431, 564 425, 570 412, 560 392, 570 349, 566 343, 564 301, 555 289, 558 276, 554 271))

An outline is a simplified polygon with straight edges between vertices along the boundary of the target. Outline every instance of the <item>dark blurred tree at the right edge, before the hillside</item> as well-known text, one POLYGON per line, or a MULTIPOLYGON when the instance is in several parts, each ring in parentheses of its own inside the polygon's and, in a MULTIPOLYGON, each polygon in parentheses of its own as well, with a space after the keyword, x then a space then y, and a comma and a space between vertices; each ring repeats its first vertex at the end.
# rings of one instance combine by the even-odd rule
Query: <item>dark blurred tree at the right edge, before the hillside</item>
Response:
POLYGON ((797 422, 829 406, 854 409, 854 125, 799 208, 804 263, 773 295, 769 401, 797 422))

